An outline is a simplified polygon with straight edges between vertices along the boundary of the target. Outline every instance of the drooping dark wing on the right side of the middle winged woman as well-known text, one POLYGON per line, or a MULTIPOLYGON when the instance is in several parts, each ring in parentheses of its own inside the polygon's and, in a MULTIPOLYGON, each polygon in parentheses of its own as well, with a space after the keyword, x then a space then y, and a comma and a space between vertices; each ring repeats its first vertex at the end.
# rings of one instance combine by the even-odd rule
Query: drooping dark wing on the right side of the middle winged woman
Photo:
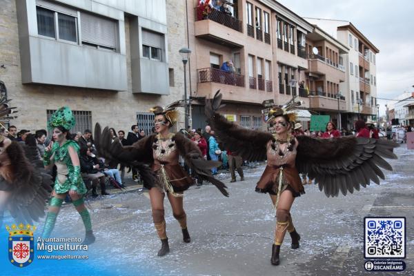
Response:
POLYGON ((189 166, 191 170, 202 179, 209 181, 211 184, 216 186, 224 196, 228 197, 226 185, 211 175, 211 169, 214 167, 217 168, 221 165, 221 163, 218 161, 205 160, 197 145, 195 145, 195 143, 187 137, 184 137, 181 133, 178 132, 174 136, 174 139, 175 145, 179 150, 179 154, 184 157, 187 166, 189 166))

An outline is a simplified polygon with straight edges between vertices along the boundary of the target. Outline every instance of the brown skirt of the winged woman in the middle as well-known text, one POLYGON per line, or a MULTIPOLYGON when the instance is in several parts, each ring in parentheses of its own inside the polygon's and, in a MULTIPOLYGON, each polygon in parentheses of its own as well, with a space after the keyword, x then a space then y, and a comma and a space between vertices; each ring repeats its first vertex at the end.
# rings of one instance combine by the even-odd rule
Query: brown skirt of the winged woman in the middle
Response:
MULTIPOLYGON (((152 168, 154 167, 155 166, 152 168)), ((157 167, 159 168, 159 166, 157 167)), ((166 171, 168 181, 170 181, 172 190, 174 190, 174 192, 182 192, 194 184, 193 178, 188 176, 187 172, 184 170, 184 168, 179 166, 179 164, 165 164, 164 170, 166 171)), ((158 170, 155 170, 155 174, 157 175, 155 184, 144 184, 144 187, 148 190, 154 187, 159 188, 160 190, 165 190, 164 184, 159 181, 162 175, 161 169, 159 168, 158 170)))

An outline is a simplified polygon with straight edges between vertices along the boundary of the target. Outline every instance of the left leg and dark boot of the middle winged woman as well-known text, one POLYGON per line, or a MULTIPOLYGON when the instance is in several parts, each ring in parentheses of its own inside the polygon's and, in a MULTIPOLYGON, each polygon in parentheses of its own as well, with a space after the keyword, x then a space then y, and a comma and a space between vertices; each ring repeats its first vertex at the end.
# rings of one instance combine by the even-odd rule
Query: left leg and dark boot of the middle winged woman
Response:
POLYGON ((164 196, 164 193, 158 188, 150 189, 152 221, 154 221, 155 229, 162 244, 161 249, 158 251, 158 256, 164 256, 170 252, 166 233, 166 220, 164 219, 164 196))

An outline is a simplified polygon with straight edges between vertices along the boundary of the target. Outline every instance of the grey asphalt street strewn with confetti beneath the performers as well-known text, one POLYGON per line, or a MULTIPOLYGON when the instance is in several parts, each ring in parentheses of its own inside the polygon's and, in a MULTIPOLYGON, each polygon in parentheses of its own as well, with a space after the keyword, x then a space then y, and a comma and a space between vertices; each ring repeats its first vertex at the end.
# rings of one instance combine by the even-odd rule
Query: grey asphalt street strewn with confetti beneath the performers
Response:
MULTIPOLYGON (((346 197, 328 198, 315 185, 295 200, 291 213, 301 235, 300 248, 290 249, 286 234, 281 264, 270 264, 275 210, 268 195, 255 193, 264 166, 246 172, 246 181, 229 183, 226 198, 212 185, 185 193, 191 243, 182 242, 179 224, 166 208, 170 254, 157 257, 161 243, 152 224, 148 193, 128 185, 123 193, 90 199, 97 241, 89 249, 95 273, 114 275, 413 275, 414 271, 414 151, 395 150, 380 186, 371 184, 346 197), (406 271, 368 273, 364 270, 364 217, 406 217, 406 271)), ((43 221, 39 226, 43 225, 43 221)), ((83 237, 83 225, 72 206, 65 206, 52 235, 83 237)), ((92 275, 92 274, 91 274, 92 275)), ((95 275, 95 274, 94 274, 95 275)))

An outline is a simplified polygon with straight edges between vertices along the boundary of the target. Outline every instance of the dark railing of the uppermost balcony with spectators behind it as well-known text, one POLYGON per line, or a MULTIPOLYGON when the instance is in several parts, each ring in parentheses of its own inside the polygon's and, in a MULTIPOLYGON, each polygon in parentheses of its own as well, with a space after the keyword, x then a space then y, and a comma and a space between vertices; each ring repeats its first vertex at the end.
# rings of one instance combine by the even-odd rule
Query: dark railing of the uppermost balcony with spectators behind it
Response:
POLYGON ((209 19, 228 28, 232 28, 233 30, 243 32, 242 21, 236 19, 235 17, 232 17, 230 14, 220 12, 219 10, 210 7, 207 7, 203 10, 203 6, 195 8, 195 14, 197 21, 209 19))

